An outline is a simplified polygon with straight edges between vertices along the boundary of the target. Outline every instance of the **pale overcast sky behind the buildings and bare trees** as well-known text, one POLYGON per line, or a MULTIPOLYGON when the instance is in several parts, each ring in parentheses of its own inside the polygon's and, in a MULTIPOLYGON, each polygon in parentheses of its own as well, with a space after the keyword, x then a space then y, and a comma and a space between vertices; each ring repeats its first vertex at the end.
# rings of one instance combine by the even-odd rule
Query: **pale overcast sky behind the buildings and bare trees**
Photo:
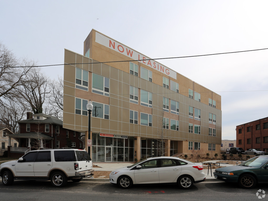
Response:
MULTIPOLYGON (((150 58, 268 48, 268 1, 6 1, 0 40, 38 65, 83 54, 95 29, 150 58)), ((268 50, 158 62, 221 95, 222 139, 236 126, 268 117, 268 50)), ((63 66, 44 67, 52 79, 63 66)), ((201 94, 202 95, 202 94, 201 94)))

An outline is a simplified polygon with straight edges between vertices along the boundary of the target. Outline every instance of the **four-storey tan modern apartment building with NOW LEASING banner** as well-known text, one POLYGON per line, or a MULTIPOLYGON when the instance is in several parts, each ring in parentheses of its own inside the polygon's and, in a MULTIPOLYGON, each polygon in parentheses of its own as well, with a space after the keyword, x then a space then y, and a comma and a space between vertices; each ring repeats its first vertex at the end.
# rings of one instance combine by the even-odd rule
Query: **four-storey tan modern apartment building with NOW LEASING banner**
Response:
POLYGON ((93 162, 220 152, 217 93, 94 29, 64 63, 63 127, 87 135, 92 101, 93 162))

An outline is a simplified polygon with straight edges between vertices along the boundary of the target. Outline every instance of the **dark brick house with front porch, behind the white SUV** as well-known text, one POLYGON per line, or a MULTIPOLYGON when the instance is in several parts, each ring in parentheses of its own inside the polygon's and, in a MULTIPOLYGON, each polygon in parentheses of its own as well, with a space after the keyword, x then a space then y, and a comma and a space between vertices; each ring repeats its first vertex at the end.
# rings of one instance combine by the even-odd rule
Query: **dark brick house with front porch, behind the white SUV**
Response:
POLYGON ((27 113, 26 120, 16 122, 19 123, 19 133, 7 136, 16 137, 19 145, 8 145, 10 157, 19 157, 40 148, 83 148, 83 142, 79 139, 80 132, 62 128, 62 121, 56 117, 27 113))

